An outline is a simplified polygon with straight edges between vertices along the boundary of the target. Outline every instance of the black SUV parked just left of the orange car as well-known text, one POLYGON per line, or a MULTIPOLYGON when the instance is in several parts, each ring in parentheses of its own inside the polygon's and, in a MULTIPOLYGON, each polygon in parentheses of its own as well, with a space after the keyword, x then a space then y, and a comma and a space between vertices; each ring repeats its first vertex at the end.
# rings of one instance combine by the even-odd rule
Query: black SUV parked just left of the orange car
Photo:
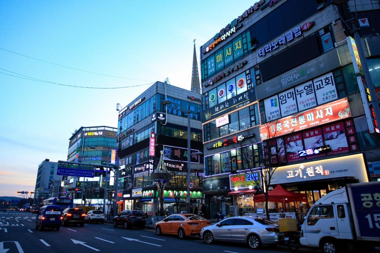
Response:
POLYGON ((139 210, 123 210, 112 219, 112 223, 114 228, 117 226, 123 226, 126 229, 132 226, 144 228, 146 225, 146 217, 144 212, 139 210))

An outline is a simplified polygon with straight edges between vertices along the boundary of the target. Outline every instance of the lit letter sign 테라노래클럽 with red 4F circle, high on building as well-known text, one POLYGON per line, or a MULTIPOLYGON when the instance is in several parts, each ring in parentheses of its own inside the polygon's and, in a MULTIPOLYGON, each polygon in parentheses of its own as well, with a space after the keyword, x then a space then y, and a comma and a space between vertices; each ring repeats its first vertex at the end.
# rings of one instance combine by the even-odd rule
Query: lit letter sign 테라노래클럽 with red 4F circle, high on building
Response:
POLYGON ((266 53, 272 52, 275 49, 278 49, 279 46, 285 45, 288 42, 294 40, 294 38, 297 38, 298 36, 301 36, 302 31, 305 31, 309 29, 312 26, 313 22, 307 22, 304 25, 299 25, 298 27, 293 28, 293 30, 290 30, 289 32, 283 34, 278 39, 266 44, 265 46, 261 47, 258 51, 259 56, 264 56, 266 53))

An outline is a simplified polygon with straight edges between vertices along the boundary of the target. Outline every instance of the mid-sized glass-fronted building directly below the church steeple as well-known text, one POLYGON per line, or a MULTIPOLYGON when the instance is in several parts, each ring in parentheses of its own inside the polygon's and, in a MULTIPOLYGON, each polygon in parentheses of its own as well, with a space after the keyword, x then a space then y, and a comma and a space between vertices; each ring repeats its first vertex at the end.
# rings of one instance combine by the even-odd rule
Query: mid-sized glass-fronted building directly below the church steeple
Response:
MULTIPOLYGON (((165 84, 166 83, 166 84, 165 84)), ((180 196, 181 210, 187 198, 187 138, 193 153, 201 151, 201 95, 189 90, 155 82, 119 111, 117 149, 119 157, 118 211, 142 210, 149 215, 157 212, 157 187, 150 173, 157 167, 160 151, 169 171, 179 178, 166 185, 165 210, 174 212, 175 193, 180 196), (165 97, 171 103, 161 104, 165 97), (190 110, 190 133, 187 133, 190 110)), ((190 171, 195 188, 191 203, 201 204, 203 198, 203 157, 192 155, 190 171)))

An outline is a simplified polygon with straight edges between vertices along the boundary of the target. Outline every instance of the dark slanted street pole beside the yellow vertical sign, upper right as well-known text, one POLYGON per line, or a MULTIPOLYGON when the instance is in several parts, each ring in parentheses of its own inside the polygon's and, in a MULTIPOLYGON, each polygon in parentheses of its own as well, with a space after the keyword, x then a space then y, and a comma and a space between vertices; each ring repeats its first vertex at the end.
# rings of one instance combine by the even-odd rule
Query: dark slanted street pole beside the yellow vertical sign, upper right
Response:
MULTIPOLYGON (((378 122, 378 120, 380 120, 379 101, 376 96, 374 84, 372 83, 372 79, 369 74, 366 55, 364 54, 363 45, 361 44, 361 40, 359 36, 359 28, 356 28, 356 25, 354 25, 354 28, 355 28, 354 39, 356 42, 356 48, 358 49, 361 66, 364 72, 364 78, 366 79, 369 95, 371 96, 371 103, 372 103, 372 107, 374 108, 375 119, 378 122)), ((353 62, 353 64, 355 64, 355 62, 353 62)), ((371 126, 368 126, 368 127, 370 128, 371 126)))

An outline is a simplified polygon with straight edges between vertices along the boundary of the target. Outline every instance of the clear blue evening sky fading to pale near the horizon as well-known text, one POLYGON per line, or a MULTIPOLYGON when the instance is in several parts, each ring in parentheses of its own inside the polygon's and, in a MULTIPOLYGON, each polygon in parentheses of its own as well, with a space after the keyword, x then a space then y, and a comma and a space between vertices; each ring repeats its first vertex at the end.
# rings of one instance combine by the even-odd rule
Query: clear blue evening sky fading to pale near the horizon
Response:
POLYGON ((84 89, 19 77, 86 87, 168 77, 190 89, 193 40, 199 64, 199 47, 255 2, 0 0, 0 196, 33 191, 38 165, 66 160, 75 129, 117 127, 116 103, 150 86, 84 89))

